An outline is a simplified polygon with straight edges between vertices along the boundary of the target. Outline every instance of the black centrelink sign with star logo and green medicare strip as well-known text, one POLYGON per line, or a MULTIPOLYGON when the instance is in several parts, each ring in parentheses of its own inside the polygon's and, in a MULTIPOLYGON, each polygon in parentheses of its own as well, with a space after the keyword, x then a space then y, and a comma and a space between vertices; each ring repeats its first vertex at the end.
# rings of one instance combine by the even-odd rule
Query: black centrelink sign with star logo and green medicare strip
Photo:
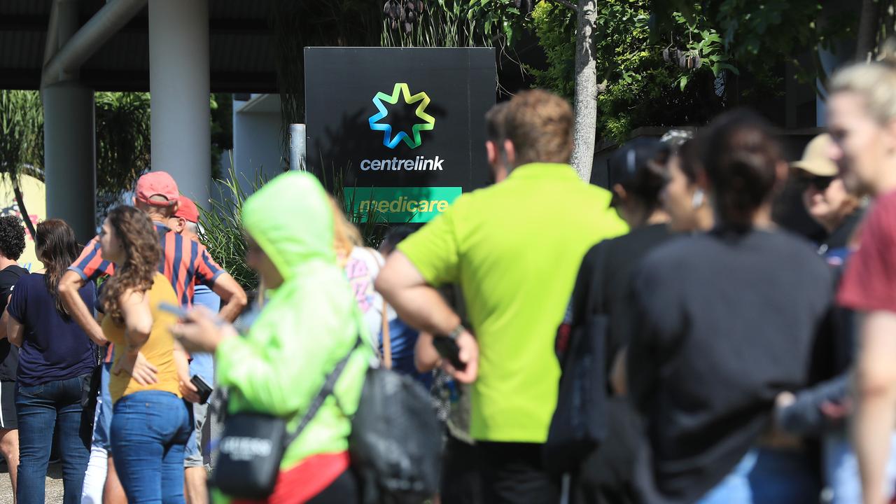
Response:
POLYGON ((306 155, 354 212, 427 222, 488 180, 491 48, 306 48, 306 155))

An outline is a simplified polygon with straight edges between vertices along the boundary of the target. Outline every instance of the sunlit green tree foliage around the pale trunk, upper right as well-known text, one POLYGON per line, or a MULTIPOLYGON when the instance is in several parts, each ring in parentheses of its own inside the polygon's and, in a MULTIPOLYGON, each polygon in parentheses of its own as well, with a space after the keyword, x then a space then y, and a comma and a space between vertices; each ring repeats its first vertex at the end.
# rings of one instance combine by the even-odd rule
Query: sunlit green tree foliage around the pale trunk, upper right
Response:
MULTIPOLYGON (((597 4, 598 137, 624 141, 639 126, 702 124, 720 110, 767 105, 781 94, 784 64, 803 82, 819 74, 819 48, 853 33, 855 13, 819 22, 817 0, 605 0, 597 4), (817 58, 815 58, 817 60, 817 58)), ((539 2, 530 27, 547 68, 539 87, 573 99, 575 13, 539 2)))

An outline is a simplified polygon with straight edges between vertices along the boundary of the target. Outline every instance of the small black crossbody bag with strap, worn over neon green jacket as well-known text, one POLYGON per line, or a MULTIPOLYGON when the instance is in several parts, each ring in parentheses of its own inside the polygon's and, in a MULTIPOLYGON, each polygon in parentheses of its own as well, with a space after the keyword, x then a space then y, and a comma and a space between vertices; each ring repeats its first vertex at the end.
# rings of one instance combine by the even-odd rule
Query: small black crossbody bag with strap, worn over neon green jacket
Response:
POLYGON ((351 351, 327 375, 295 431, 287 432, 287 420, 266 413, 234 413, 224 421, 218 463, 211 474, 211 483, 230 497, 266 500, 277 484, 280 462, 286 448, 297 439, 314 418, 336 381, 358 348, 351 351))

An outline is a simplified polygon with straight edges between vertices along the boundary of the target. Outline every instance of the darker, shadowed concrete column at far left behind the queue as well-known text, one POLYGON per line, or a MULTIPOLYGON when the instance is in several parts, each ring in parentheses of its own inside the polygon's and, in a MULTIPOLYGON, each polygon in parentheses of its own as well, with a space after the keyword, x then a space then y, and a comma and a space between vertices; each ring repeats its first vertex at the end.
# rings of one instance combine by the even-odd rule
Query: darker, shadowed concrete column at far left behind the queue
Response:
POLYGON ((82 243, 96 234, 93 90, 57 83, 42 91, 47 218, 65 219, 82 243))

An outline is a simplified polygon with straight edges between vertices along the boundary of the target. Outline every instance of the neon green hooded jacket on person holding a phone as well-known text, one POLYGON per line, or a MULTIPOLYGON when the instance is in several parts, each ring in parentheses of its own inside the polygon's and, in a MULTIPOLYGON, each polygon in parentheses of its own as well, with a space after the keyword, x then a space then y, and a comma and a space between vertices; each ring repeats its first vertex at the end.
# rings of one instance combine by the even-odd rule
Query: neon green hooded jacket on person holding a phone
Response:
MULTIPOLYGON (((328 196, 314 176, 291 171, 265 184, 243 205, 243 227, 280 271, 283 283, 244 337, 220 343, 217 377, 228 387, 229 413, 261 412, 296 428, 326 376, 354 346, 365 325, 333 251, 328 196)), ((280 471, 308 456, 349 448, 346 413, 358 407, 368 345, 355 351, 331 395, 286 450, 280 471)))

